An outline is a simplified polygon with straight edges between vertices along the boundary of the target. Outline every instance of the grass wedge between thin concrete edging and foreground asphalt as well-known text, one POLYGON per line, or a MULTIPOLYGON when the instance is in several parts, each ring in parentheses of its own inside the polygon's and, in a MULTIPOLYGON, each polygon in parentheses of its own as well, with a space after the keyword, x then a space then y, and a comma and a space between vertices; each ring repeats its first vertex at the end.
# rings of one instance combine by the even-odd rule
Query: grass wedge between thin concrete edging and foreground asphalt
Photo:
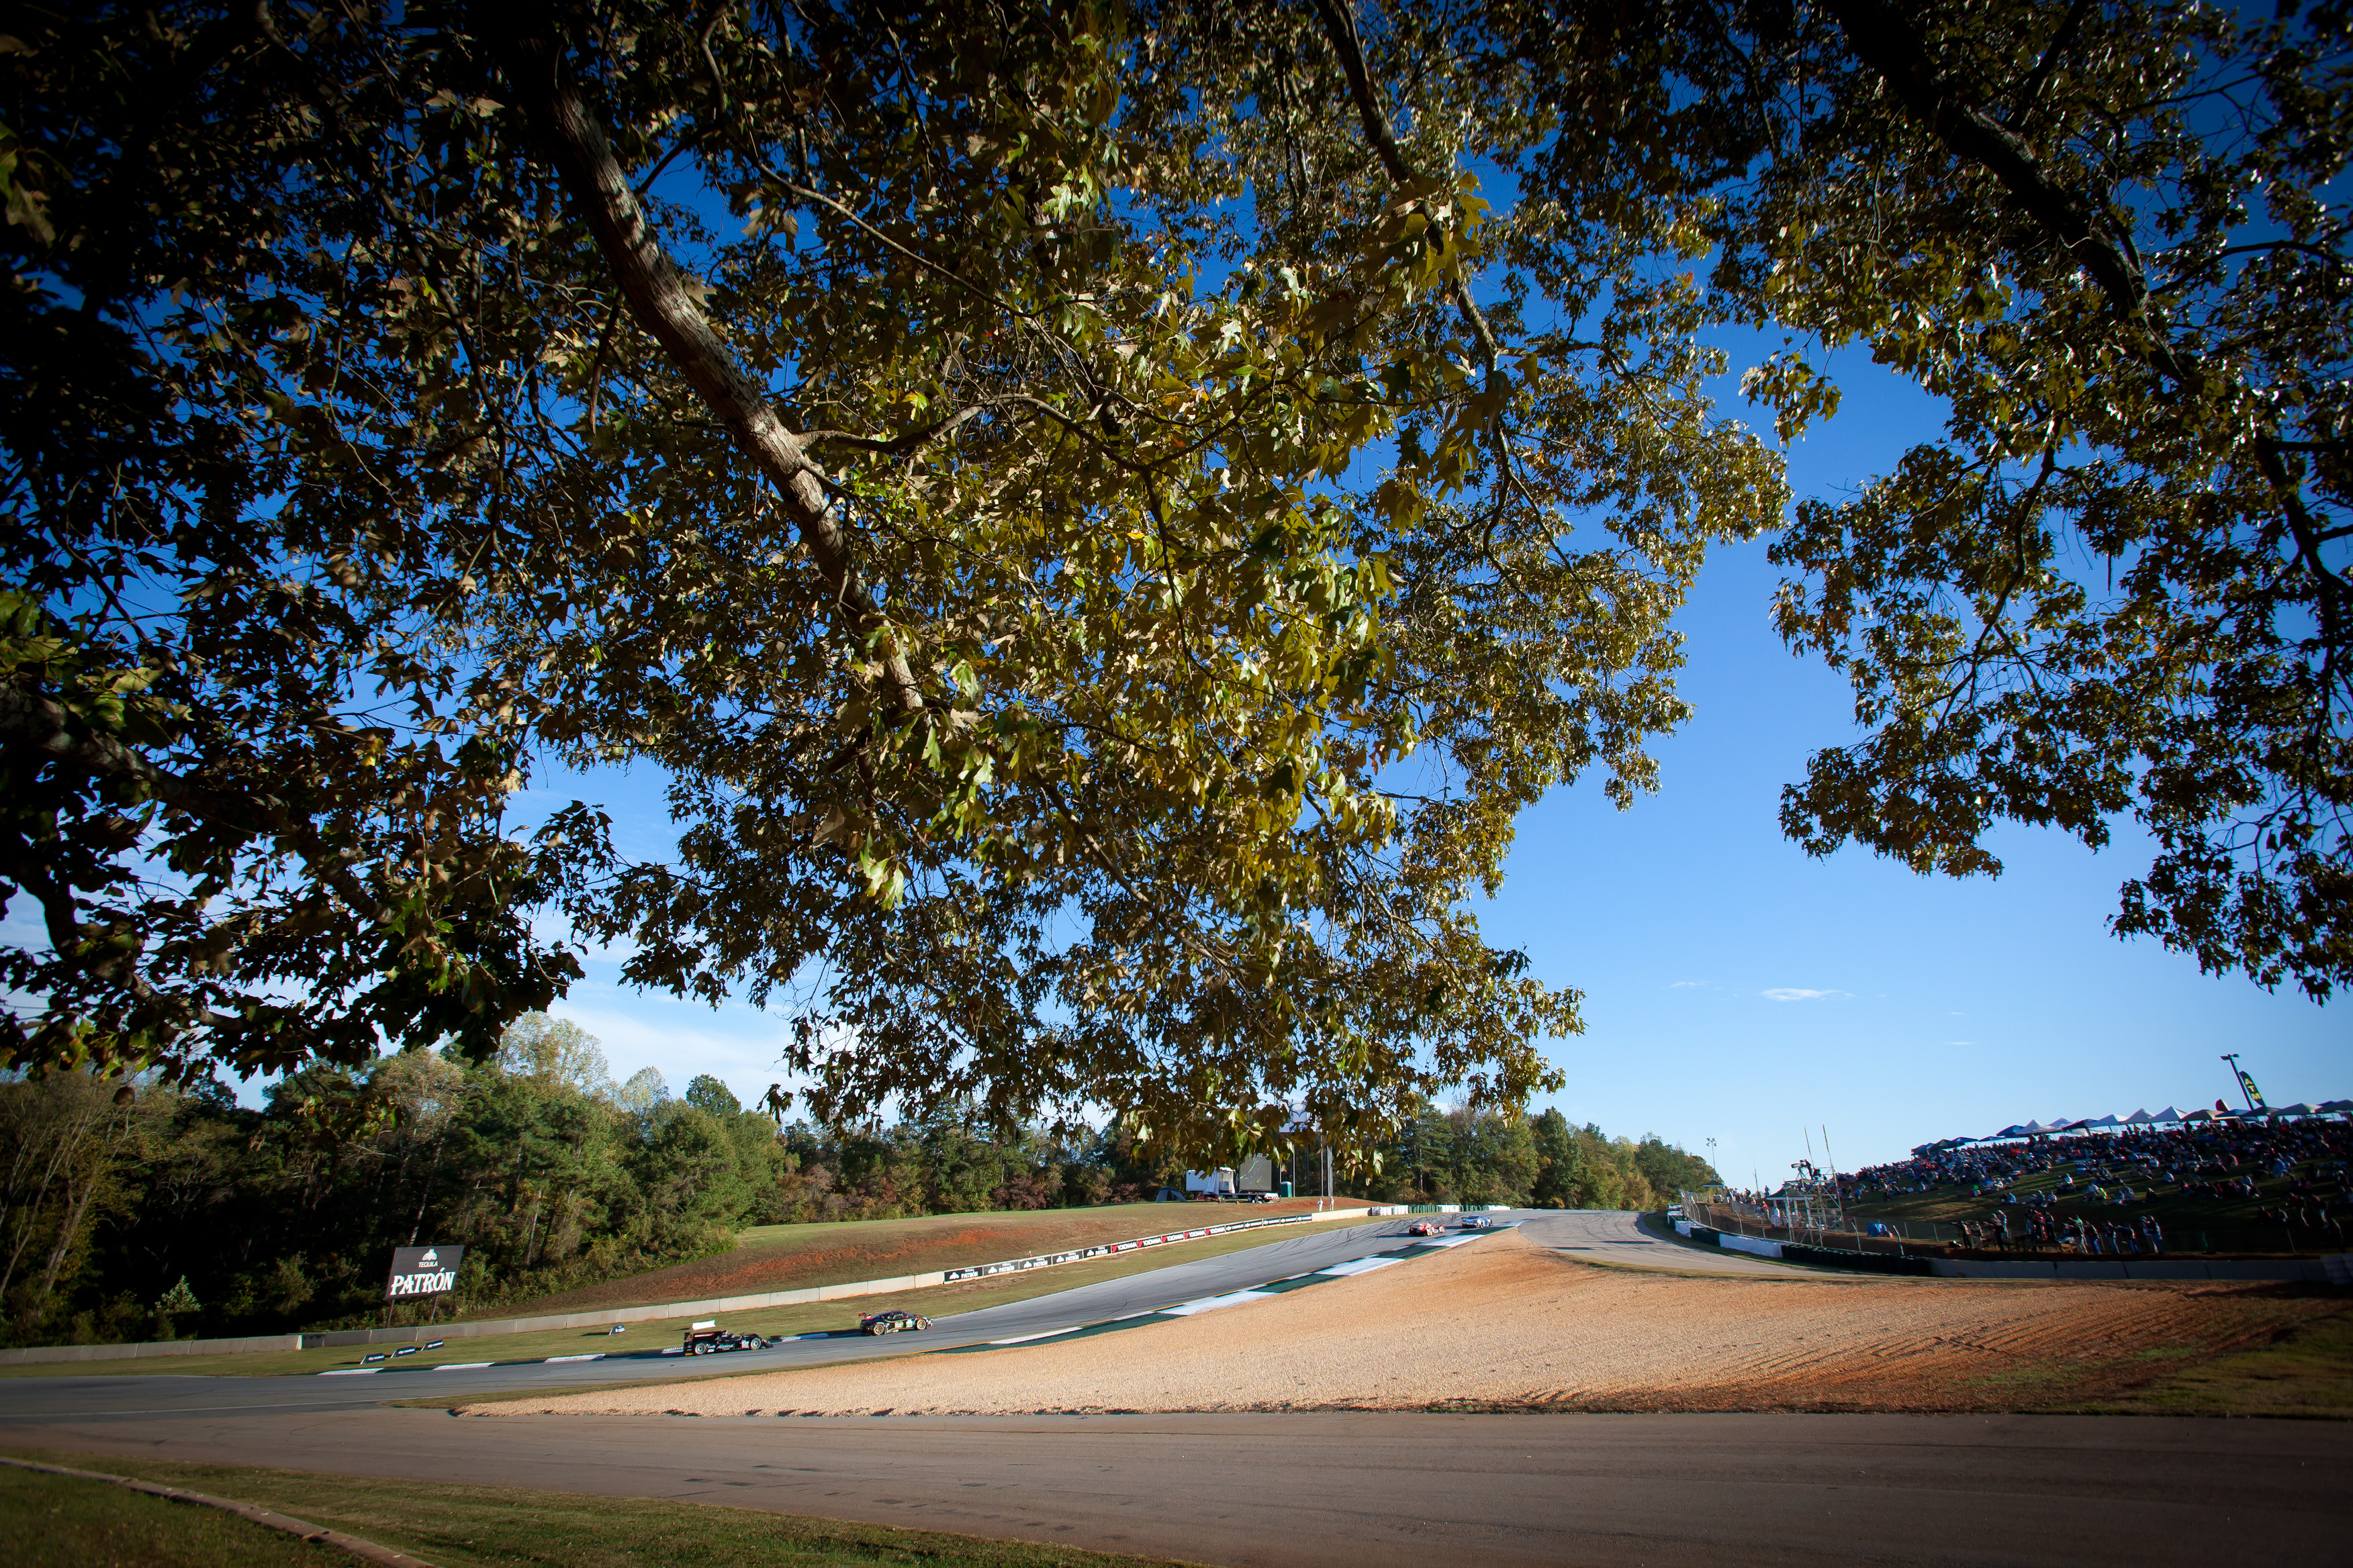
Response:
MULTIPOLYGON (((805 1519, 798 1514, 767 1514, 758 1509, 715 1507, 708 1502, 656 1502, 642 1497, 591 1497, 574 1493, 539 1493, 520 1486, 447 1486, 428 1481, 379 1481, 369 1476, 318 1476, 299 1469, 249 1469, 233 1465, 176 1465, 165 1460, 92 1458, 61 1453, 26 1453, 24 1458, 78 1469, 104 1469, 141 1481, 165 1481, 214 1497, 259 1502, 261 1507, 292 1514, 308 1523, 332 1526, 348 1535, 372 1540, 379 1547, 409 1552, 435 1568, 506 1568, 520 1563, 565 1563, 565 1568, 849 1568, 854 1563, 920 1563, 925 1568, 1176 1568, 1169 1559, 1106 1556, 1071 1547, 1038 1547, 1028 1542, 981 1540, 976 1535, 946 1535, 939 1530, 894 1530, 889 1526, 847 1523, 838 1519, 805 1519)), ((7 1467, 0 1467, 7 1472, 7 1467)), ((28 1472, 7 1472, 24 1476, 28 1472)), ((66 1476, 40 1476, 35 1481, 56 1486, 26 1488, 33 1502, 19 1514, 14 1495, 0 1493, 12 1505, 5 1516, 9 1563, 99 1563, 113 1568, 132 1563, 146 1568, 179 1568, 221 1563, 301 1561, 306 1566, 348 1563, 353 1559, 325 1547, 308 1547, 287 1535, 249 1526, 214 1509, 195 1509, 129 1493, 101 1481, 71 1481, 66 1476), (80 1488, 80 1490, 75 1490, 80 1488), (40 1500, 54 1500, 54 1516, 40 1512, 40 1500), (188 1535, 158 1535, 148 1552, 40 1556, 47 1537, 56 1535, 61 1552, 75 1549, 80 1537, 68 1535, 64 1521, 122 1512, 129 1505, 151 1502, 167 1519, 160 1523, 188 1535), (181 1519, 186 1516, 186 1519, 181 1519), (59 1523, 52 1526, 49 1519, 59 1523), (202 1556, 195 1528, 221 1521, 238 1535, 238 1556, 202 1556), (33 1542, 26 1556, 24 1542, 33 1542), (181 1542, 188 1542, 186 1554, 181 1542), (245 1544, 249 1542, 249 1544, 245 1544), (266 1556, 285 1542, 299 1559, 266 1556)), ((136 1544, 136 1542, 125 1542, 136 1544)))

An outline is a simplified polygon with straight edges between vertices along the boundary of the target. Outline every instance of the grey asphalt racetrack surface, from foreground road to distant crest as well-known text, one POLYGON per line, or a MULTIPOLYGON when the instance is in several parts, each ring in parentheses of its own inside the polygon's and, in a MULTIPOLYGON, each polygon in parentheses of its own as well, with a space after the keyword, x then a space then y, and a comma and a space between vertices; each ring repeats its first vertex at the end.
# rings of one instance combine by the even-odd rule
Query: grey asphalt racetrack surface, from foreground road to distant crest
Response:
MULTIPOLYGON (((1577 1220, 1555 1215, 1527 1234, 1598 1237, 1567 1246, 1652 1260, 1640 1237, 1577 1220)), ((1365 1229, 1362 1241, 1402 1241, 1365 1229)), ((1106 1286, 1146 1309, 1325 1267, 1351 1255, 1325 1251, 1344 1241, 1306 1234, 1275 1244, 1292 1248, 1280 1265, 1273 1248, 1252 1248, 1106 1286)), ((1685 1248, 1668 1251, 1661 1262, 1687 1267, 1685 1248)), ((991 1316, 1031 1309, 1026 1328, 1064 1326, 1078 1298, 1099 1305, 1106 1286, 991 1316)), ((1005 1328, 998 1316, 988 1324, 993 1335, 1005 1328)), ((976 1338, 969 1321, 958 1331, 925 1340, 976 1338)), ((920 1342, 802 1345, 904 1354, 920 1342)), ((779 1363, 725 1361, 729 1371, 779 1363)), ((499 1387, 576 1387, 685 1366, 487 1371, 499 1387)), ((456 1389, 454 1378, 7 1380, 0 1448, 722 1502, 1238 1568, 2353 1563, 2353 1425, 2344 1422, 1348 1410, 456 1420, 374 1403, 480 1392, 456 1389)))

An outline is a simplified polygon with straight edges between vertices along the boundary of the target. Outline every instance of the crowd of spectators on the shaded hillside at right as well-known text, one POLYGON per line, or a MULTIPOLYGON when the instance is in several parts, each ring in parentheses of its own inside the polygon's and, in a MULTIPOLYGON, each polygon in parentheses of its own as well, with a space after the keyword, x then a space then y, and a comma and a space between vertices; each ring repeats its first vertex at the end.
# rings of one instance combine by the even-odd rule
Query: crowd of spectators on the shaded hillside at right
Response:
POLYGON ((2165 1251, 2165 1227, 2148 1213, 2129 1213, 2134 1206, 2165 1194, 2254 1199, 2261 1197, 2259 1178, 2287 1182, 2257 1208, 2259 1218, 2341 1244, 2353 1192, 2348 1161, 2353 1124, 2339 1117, 2245 1117, 1932 1150, 1840 1175, 1838 1185, 1847 1199, 1965 1187, 1995 1204, 1988 1220, 1962 1225, 1967 1241, 2129 1255, 2165 1251), (2017 1192, 2021 1180, 2052 1171, 2059 1173, 2054 1185, 2017 1192), (2059 1199, 2071 1199, 2075 1213, 2061 1213, 2059 1199), (2101 1206, 2125 1213, 2085 1213, 2101 1206))

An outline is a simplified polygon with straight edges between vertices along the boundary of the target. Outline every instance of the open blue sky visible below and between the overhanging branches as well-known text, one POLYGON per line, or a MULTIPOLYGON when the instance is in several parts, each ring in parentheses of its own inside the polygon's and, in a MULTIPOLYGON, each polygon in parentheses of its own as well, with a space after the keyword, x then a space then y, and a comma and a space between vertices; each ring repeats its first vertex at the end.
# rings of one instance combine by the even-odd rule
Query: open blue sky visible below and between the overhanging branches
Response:
MULTIPOLYGON (((1857 489, 1939 423, 1868 364, 1845 360, 1842 381, 1845 411, 1791 454, 1800 496, 1857 489)), ((1807 1135, 1819 1154, 1824 1126, 1852 1168, 2009 1121, 2212 1105, 2231 1095, 2221 1051, 2273 1103, 2353 1093, 2327 1009, 2106 933, 2118 886, 2148 865, 2129 823, 2101 853, 2005 830, 1991 882, 1786 842, 1781 785, 1854 726, 1845 684, 1772 632, 1774 583, 1765 543, 1708 562, 1680 621, 1697 712, 1657 748, 1659 795, 1621 813, 1595 780, 1558 790, 1522 818, 1485 910, 1492 940, 1586 994, 1586 1032, 1551 1041, 1562 1112, 1699 1152, 1715 1138, 1722 1173, 1746 1182, 1786 1175, 1807 1135)), ((607 776, 598 795, 624 849, 659 853, 652 778, 607 776)), ((591 961, 555 1011, 605 1041, 619 1077, 649 1065, 682 1088, 711 1072, 746 1103, 781 1077, 781 1018, 633 994, 612 964, 591 961)))

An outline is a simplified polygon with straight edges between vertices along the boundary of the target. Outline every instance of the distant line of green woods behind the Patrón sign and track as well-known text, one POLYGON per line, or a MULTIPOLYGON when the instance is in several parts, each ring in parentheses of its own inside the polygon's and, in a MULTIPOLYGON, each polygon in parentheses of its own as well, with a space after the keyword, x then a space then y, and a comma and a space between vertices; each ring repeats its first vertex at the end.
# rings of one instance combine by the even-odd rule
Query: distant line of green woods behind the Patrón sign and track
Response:
MULTIPOLYGON (((341 1070, 235 1103, 49 1072, 0 1084, 0 1345, 287 1333, 376 1321, 391 1248, 464 1244, 449 1309, 482 1312, 727 1251, 746 1225, 1146 1199, 1176 1180, 1120 1131, 991 1133, 972 1107, 779 1128, 713 1077, 614 1081, 579 1025, 532 1013, 499 1053, 365 1070, 379 1124, 334 1114, 341 1070)), ((1534 1119, 1424 1107, 1341 1187, 1384 1201, 1647 1208, 1706 1166, 1534 1119)))

